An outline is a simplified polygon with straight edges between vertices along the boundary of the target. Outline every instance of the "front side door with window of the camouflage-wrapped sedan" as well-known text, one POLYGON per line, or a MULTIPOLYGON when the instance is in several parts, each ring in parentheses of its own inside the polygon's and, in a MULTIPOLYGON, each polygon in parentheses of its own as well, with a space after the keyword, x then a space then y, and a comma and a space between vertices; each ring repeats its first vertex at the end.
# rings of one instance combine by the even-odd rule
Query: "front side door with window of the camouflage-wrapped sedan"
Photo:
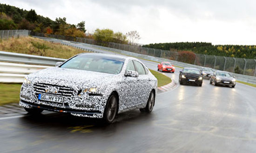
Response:
MULTIPOLYGON (((132 60, 128 61, 125 72, 128 70, 136 71, 132 60)), ((138 77, 124 77, 124 83, 120 84, 122 90, 120 96, 121 109, 131 108, 134 106, 134 103, 139 100, 139 98, 136 96, 138 80, 138 77)))

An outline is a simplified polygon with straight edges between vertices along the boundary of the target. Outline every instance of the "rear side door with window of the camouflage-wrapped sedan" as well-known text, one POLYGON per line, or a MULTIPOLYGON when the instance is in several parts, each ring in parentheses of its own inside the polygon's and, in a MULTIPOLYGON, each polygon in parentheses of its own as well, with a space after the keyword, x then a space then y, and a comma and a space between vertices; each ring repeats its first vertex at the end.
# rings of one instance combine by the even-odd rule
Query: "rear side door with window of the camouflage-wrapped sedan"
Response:
POLYGON ((135 102, 135 105, 139 105, 148 101, 148 96, 150 92, 150 80, 148 75, 146 74, 143 64, 134 60, 134 65, 136 71, 139 73, 136 90, 136 96, 139 97, 139 100, 138 102, 135 102))

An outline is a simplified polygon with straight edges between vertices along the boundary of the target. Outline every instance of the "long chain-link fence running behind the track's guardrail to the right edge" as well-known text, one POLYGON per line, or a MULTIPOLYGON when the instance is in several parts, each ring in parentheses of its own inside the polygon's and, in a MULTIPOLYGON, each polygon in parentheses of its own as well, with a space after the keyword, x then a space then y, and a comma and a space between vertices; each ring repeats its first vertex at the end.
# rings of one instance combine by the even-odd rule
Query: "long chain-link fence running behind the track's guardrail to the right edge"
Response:
POLYGON ((44 33, 31 32, 33 36, 50 37, 77 41, 92 45, 101 45, 123 51, 130 51, 154 57, 162 57, 179 62, 195 64, 203 67, 210 67, 216 70, 225 70, 233 73, 256 76, 256 59, 222 57, 204 54, 195 54, 189 51, 166 51, 160 49, 146 48, 136 45, 118 44, 111 42, 95 41, 94 39, 68 37, 61 35, 48 35, 44 33))

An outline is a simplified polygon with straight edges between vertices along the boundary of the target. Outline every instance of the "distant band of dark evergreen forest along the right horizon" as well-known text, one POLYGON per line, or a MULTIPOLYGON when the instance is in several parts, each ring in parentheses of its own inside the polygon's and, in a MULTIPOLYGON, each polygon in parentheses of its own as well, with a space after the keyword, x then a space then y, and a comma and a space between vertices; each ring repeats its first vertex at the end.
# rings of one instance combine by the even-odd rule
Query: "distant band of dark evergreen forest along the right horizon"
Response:
POLYGON ((143 45, 143 47, 169 51, 193 51, 198 54, 256 58, 256 45, 212 45, 204 42, 159 43, 143 45))

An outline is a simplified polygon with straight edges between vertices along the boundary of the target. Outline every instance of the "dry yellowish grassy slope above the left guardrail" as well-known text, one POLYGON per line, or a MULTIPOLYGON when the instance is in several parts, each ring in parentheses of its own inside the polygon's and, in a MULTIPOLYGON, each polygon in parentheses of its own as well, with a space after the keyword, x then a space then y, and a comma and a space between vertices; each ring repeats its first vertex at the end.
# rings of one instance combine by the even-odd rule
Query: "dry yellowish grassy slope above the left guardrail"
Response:
POLYGON ((85 52, 70 46, 55 44, 34 37, 9 38, 7 40, 1 40, 0 51, 57 58, 70 58, 76 54, 85 52))

